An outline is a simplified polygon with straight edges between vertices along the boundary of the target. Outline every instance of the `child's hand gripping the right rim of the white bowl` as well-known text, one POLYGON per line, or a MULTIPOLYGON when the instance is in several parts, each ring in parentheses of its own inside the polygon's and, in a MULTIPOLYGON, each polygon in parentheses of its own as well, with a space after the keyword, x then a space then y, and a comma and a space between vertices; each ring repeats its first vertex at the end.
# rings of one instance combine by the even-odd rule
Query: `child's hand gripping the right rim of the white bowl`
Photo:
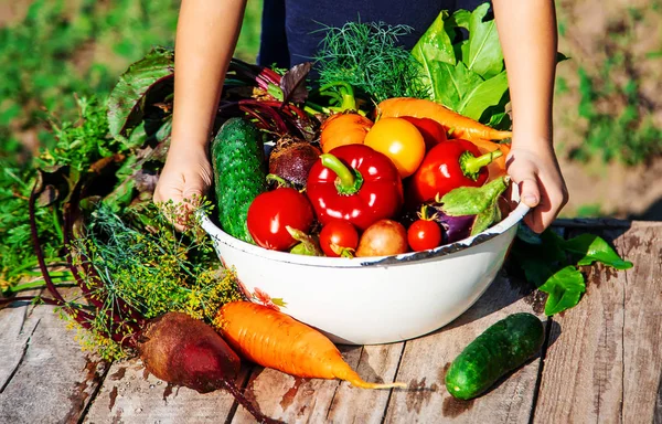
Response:
POLYGON ((568 201, 568 191, 551 148, 541 151, 513 148, 506 159, 508 173, 520 187, 520 199, 532 210, 526 225, 542 233, 568 201))

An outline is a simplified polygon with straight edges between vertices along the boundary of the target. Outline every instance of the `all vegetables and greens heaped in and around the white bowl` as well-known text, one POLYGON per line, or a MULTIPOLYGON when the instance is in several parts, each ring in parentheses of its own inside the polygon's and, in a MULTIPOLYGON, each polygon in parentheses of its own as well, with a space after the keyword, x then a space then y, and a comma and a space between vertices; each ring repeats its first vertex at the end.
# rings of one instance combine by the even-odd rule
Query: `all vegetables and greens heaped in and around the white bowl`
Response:
MULTIPOLYGON (((319 331, 244 301, 197 216, 263 248, 342 258, 430 250, 499 222, 511 132, 487 10, 442 12, 413 52, 396 43, 406 26, 350 22, 325 29, 314 64, 271 70, 233 60, 210 140, 214 190, 189 205, 151 201, 170 141, 174 59, 150 52, 107 105, 78 99, 79 123, 54 124, 58 144, 32 168, 0 157, 0 181, 9 182, 0 186, 0 305, 54 305, 103 358, 138 354, 171 383, 228 390, 259 422, 274 421, 234 386, 239 358, 359 388, 404 386, 363 381, 319 331), (181 220, 189 225, 180 233, 181 220), (63 290, 72 280, 78 297, 63 290), (21 295, 33 288, 45 290, 21 295)), ((605 247, 597 239, 543 240, 556 243, 558 263, 564 252, 605 247)), ((602 251, 578 264, 631 266, 602 251)), ((535 258, 521 259, 551 294, 551 312, 578 301, 576 268, 564 268, 573 276, 565 286, 557 274, 542 278, 535 258)), ((523 319, 510 325, 525 327, 523 319)), ((503 329, 489 337, 496 336, 520 343, 503 329)), ((489 378, 459 372, 472 367, 466 353, 447 384, 477 395, 537 346, 494 356, 505 362, 489 378), (474 384, 461 388, 462 379, 474 384)))

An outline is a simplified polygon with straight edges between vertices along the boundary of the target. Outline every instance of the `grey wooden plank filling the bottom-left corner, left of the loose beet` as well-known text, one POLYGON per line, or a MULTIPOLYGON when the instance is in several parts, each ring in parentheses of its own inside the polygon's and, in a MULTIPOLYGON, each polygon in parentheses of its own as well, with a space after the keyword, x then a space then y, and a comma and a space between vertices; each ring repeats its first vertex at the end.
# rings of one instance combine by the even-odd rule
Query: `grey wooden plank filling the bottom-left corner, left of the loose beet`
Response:
MULTIPOLYGON (((2 318, 6 322, 8 317, 2 318)), ((77 423, 107 363, 82 352, 75 332, 66 329, 66 321, 52 307, 35 307, 28 320, 35 322, 34 328, 18 369, 0 393, 0 422, 77 423)))

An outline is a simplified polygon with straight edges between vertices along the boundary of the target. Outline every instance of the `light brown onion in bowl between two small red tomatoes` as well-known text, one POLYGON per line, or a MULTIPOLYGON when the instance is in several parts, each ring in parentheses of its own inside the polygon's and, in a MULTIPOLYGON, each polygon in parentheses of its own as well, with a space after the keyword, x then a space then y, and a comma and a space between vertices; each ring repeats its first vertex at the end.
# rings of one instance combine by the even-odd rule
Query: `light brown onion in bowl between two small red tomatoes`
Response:
POLYGON ((399 255, 408 250, 405 226, 397 221, 380 220, 361 234, 356 257, 399 255))

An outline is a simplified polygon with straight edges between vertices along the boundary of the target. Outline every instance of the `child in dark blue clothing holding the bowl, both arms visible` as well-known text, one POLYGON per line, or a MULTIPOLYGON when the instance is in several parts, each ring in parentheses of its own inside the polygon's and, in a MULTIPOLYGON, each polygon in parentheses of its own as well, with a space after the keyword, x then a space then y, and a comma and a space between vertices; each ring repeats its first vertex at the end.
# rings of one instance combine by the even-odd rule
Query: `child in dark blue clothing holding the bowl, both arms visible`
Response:
MULTIPOLYGON (((265 0, 260 62, 288 67, 310 60, 320 23, 383 21, 414 28, 410 47, 440 10, 473 9, 452 0, 265 0)), ((175 203, 212 184, 207 144, 223 80, 239 34, 246 0, 182 0, 175 40, 174 116, 168 159, 154 201, 175 203)), ((568 200, 552 142, 556 70, 554 0, 493 0, 510 85, 513 139, 508 172, 532 208, 524 219, 545 230, 568 200)))

